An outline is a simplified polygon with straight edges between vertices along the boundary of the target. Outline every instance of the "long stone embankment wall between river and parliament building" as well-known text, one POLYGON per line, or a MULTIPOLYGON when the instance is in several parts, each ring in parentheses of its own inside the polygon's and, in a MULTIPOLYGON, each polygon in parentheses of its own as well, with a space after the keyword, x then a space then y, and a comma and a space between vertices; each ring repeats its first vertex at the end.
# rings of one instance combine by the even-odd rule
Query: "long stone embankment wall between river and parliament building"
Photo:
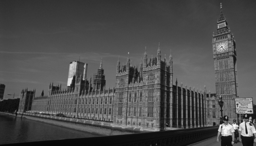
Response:
MULTIPOLYGON (((15 114, 0 112, 0 114, 7 114, 15 116, 15 114)), ((143 133, 146 131, 140 131, 138 129, 123 129, 118 127, 112 127, 112 122, 105 121, 96 121, 96 120, 88 120, 88 119, 76 119, 76 118, 68 118, 68 117, 56 117, 56 116, 48 116, 48 115, 38 115, 31 113, 24 113, 23 115, 18 114, 19 118, 26 118, 30 120, 35 120, 39 122, 44 122, 52 125, 57 125, 61 127, 67 127, 75 130, 85 131, 94 134, 100 135, 120 135, 120 134, 132 134, 132 133, 143 133)))

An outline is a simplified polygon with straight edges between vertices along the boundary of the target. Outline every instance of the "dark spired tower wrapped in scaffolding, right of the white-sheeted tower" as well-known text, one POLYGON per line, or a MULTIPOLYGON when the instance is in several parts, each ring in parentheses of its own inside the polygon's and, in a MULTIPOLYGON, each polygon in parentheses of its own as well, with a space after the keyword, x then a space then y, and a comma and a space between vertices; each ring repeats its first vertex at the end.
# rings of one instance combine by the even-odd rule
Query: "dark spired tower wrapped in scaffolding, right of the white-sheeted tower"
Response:
POLYGON ((98 69, 98 73, 93 74, 93 90, 103 90, 106 85, 104 69, 102 68, 102 59, 100 62, 100 68, 98 69))

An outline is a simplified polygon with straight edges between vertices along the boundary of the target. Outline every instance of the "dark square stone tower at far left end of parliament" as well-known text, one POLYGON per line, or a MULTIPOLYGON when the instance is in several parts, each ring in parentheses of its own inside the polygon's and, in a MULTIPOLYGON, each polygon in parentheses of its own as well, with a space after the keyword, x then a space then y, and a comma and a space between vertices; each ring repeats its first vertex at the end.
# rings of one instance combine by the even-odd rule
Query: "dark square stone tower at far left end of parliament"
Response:
POLYGON ((18 110, 19 112, 26 112, 31 110, 35 94, 35 89, 33 91, 28 91, 28 88, 26 88, 25 90, 22 89, 20 93, 20 104, 18 110))

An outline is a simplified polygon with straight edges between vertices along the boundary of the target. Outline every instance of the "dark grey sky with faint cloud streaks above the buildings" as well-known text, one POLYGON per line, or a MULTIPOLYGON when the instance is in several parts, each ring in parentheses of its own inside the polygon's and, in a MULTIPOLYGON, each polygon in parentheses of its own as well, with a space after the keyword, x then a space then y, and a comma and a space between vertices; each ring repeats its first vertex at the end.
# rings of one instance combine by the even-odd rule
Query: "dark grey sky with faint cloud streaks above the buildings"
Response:
POLYGON ((222 11, 236 40, 239 97, 256 103, 256 1, 0 1, 0 83, 4 98, 21 90, 47 93, 50 82, 67 88, 69 63, 88 64, 87 78, 102 58, 106 87, 116 64, 140 65, 157 55, 173 59, 173 84, 215 93, 213 32, 222 11))

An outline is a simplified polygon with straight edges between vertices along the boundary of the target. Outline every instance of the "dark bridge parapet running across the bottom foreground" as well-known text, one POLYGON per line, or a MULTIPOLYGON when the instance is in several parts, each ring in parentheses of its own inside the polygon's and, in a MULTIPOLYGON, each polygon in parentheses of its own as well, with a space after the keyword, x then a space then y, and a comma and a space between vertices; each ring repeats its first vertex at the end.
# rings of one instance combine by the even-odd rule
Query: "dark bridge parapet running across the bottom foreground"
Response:
MULTIPOLYGON (((167 130, 138 134, 24 142, 12 145, 93 145, 93 146, 185 146, 217 136, 218 126, 167 130)), ((8 144, 7 144, 8 145, 8 144)))

